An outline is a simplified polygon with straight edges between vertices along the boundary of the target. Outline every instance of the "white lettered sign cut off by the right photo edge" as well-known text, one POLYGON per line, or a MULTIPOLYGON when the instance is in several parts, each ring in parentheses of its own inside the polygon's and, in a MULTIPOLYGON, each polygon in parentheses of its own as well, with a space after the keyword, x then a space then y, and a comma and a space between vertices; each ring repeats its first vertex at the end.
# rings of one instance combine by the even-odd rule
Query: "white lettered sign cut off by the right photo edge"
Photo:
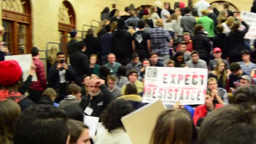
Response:
MULTIPOLYGON (((241 18, 249 26, 244 38, 256 39, 256 13, 241 11, 241 18)), ((244 28, 244 26, 241 26, 239 29, 242 30, 244 28)))

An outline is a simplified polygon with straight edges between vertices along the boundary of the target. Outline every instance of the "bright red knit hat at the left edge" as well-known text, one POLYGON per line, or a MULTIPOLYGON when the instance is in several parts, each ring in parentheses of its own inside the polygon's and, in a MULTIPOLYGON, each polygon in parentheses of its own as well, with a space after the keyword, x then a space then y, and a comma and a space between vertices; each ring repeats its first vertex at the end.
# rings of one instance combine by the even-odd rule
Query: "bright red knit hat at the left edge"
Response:
POLYGON ((19 81, 22 76, 20 65, 15 60, 0 62, 0 84, 9 86, 19 81))

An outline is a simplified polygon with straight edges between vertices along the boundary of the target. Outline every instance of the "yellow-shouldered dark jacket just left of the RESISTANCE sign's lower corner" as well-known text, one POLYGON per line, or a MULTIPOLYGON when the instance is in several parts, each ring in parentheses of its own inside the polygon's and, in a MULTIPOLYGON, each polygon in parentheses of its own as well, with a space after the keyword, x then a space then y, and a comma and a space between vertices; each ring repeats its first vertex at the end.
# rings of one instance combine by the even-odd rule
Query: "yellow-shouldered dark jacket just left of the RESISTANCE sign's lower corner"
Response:
POLYGON ((117 99, 124 99, 129 101, 134 109, 139 109, 146 105, 146 103, 142 103, 142 97, 140 95, 130 94, 130 95, 122 95, 121 97, 118 97, 117 99))

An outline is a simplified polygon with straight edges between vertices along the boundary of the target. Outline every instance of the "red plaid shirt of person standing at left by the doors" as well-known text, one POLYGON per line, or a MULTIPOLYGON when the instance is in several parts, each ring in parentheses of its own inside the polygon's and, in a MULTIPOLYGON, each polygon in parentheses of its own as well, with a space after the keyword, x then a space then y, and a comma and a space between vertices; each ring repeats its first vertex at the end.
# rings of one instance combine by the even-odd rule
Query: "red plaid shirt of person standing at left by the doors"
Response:
POLYGON ((41 60, 35 58, 33 58, 33 62, 36 66, 37 81, 31 82, 29 88, 33 90, 45 90, 47 88, 47 84, 44 63, 41 60))

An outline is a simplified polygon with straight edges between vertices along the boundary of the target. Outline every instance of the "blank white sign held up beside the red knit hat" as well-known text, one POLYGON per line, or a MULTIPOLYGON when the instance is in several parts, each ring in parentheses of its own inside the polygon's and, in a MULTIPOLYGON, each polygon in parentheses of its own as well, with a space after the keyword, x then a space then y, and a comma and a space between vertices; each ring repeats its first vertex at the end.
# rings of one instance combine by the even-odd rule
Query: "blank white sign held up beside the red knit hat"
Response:
MULTIPOLYGON (((33 62, 33 57, 31 54, 21 54, 21 55, 6 55, 4 57, 5 60, 15 60, 19 63, 22 69, 22 77, 23 82, 25 82, 29 76, 29 72, 31 69, 31 63, 33 62)), ((36 73, 34 73, 32 77, 32 82, 37 81, 36 73)))

